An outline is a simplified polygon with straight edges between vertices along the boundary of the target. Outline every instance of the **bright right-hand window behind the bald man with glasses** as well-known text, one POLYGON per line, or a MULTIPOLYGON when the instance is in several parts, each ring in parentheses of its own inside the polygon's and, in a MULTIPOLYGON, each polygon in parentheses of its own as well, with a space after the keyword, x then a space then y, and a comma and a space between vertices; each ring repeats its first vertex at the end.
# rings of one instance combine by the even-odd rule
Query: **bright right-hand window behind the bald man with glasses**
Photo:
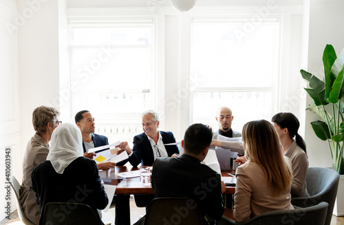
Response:
POLYGON ((249 34, 245 19, 193 19, 191 99, 193 122, 215 124, 216 109, 233 110, 233 129, 270 120, 279 77, 279 21, 262 20, 249 34), (213 115, 213 116, 209 116, 213 115))

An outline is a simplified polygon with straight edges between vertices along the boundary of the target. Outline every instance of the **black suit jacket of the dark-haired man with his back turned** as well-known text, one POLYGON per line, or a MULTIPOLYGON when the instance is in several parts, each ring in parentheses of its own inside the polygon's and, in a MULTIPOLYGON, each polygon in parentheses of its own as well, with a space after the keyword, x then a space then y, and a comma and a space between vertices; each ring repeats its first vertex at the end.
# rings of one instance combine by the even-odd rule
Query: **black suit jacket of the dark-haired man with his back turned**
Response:
MULTIPOLYGON (((158 158, 153 164, 151 184, 155 197, 189 197, 200 207, 201 215, 221 219, 224 202, 221 177, 193 156, 158 158)), ((204 223, 207 224, 204 220, 204 223)))

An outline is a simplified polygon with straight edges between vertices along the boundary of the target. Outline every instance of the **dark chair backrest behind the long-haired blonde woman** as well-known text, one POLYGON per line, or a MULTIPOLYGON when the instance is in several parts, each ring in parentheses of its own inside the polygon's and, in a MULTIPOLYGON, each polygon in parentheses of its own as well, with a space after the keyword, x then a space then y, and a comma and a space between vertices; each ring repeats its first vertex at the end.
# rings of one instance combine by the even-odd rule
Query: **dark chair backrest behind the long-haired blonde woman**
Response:
POLYGON ((261 213, 247 222, 235 222, 224 218, 218 222, 219 225, 240 224, 240 225, 266 225, 266 224, 293 224, 293 225, 323 225, 327 213, 327 202, 321 202, 316 206, 308 208, 295 208, 289 210, 271 211, 261 213))

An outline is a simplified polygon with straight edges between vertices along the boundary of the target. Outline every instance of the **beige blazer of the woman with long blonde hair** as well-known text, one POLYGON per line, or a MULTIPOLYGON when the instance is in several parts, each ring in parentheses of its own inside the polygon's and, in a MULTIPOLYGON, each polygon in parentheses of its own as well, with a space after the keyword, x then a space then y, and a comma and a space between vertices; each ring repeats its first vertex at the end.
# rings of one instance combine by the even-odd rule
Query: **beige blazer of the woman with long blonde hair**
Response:
POLYGON ((263 169, 255 162, 248 161, 237 168, 233 216, 238 222, 247 221, 261 213, 294 208, 290 203, 290 188, 274 196, 263 169))

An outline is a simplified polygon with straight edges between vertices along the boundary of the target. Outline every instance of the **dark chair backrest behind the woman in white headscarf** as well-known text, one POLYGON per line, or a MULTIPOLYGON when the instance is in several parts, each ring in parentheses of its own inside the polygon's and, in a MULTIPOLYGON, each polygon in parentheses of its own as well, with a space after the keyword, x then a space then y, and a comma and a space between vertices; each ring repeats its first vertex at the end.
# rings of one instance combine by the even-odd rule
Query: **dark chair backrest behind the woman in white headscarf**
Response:
POLYGON ((45 205, 43 225, 100 225, 100 220, 87 204, 50 202, 45 205))

